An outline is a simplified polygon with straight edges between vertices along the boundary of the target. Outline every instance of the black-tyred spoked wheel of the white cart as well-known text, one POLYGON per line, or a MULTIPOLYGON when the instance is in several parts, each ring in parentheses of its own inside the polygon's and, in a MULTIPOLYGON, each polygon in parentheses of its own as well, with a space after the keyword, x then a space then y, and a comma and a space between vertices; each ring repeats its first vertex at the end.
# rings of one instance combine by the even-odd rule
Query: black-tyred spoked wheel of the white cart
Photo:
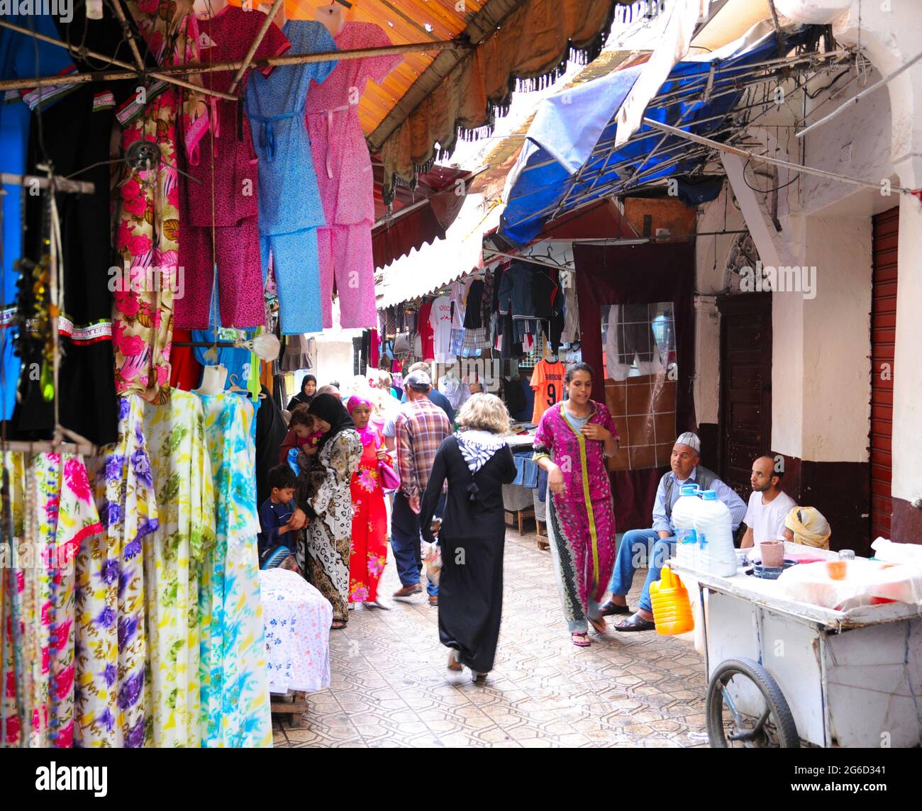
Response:
POLYGON ((797 724, 784 693, 761 664, 751 659, 727 659, 717 666, 707 685, 707 735, 711 746, 780 747, 800 746, 797 724), (765 709, 756 718, 737 711, 727 686, 750 681, 762 694, 765 709))

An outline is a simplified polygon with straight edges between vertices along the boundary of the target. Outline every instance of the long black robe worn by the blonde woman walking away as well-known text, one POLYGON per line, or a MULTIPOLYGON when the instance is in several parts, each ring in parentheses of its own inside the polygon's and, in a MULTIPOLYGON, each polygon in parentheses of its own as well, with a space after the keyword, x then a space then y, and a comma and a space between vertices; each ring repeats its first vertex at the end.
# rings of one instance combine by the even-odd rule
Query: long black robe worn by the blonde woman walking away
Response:
POLYGON ((439 447, 422 496, 420 529, 432 541, 430 524, 442 486, 448 496, 442 513, 442 575, 439 582, 439 639, 458 651, 461 664, 476 673, 493 667, 502 619, 502 552, 506 524, 502 485, 515 478, 509 446, 493 454, 471 476, 454 436, 439 447), (471 483, 477 498, 471 500, 471 483))

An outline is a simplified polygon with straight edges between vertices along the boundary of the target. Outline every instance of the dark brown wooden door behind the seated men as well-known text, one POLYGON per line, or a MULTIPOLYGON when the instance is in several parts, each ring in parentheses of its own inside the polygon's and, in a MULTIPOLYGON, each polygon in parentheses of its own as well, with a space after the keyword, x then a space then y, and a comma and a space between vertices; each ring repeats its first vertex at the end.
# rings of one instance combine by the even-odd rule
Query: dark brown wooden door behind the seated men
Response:
POLYGON ((772 294, 721 296, 717 473, 747 501, 752 460, 772 450, 772 294))

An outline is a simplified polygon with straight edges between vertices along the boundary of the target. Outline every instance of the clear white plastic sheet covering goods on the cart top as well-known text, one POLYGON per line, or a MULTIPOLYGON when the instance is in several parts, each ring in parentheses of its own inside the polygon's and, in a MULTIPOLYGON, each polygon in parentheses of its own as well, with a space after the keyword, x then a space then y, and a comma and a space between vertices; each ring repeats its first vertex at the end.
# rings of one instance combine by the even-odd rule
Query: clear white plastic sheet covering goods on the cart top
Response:
POLYGON ((862 605, 922 602, 922 570, 900 564, 856 560, 802 563, 782 572, 779 593, 800 603, 847 611, 862 605), (831 570, 844 569, 842 580, 831 570))

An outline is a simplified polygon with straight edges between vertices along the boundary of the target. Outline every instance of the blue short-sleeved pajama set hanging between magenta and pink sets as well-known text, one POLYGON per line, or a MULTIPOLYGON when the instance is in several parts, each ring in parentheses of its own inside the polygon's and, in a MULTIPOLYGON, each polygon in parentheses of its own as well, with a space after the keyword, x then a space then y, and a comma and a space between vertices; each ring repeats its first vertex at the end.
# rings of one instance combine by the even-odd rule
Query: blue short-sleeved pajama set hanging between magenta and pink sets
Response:
MULTIPOLYGON (((291 42, 291 53, 337 50, 330 32, 314 20, 289 20, 282 32, 291 42)), ((246 87, 246 114, 259 159, 263 279, 265 282, 271 253, 283 335, 324 328, 317 229, 326 225, 326 219, 313 170, 304 103, 311 80, 324 81, 336 65, 280 65, 268 78, 255 71, 246 87)))

